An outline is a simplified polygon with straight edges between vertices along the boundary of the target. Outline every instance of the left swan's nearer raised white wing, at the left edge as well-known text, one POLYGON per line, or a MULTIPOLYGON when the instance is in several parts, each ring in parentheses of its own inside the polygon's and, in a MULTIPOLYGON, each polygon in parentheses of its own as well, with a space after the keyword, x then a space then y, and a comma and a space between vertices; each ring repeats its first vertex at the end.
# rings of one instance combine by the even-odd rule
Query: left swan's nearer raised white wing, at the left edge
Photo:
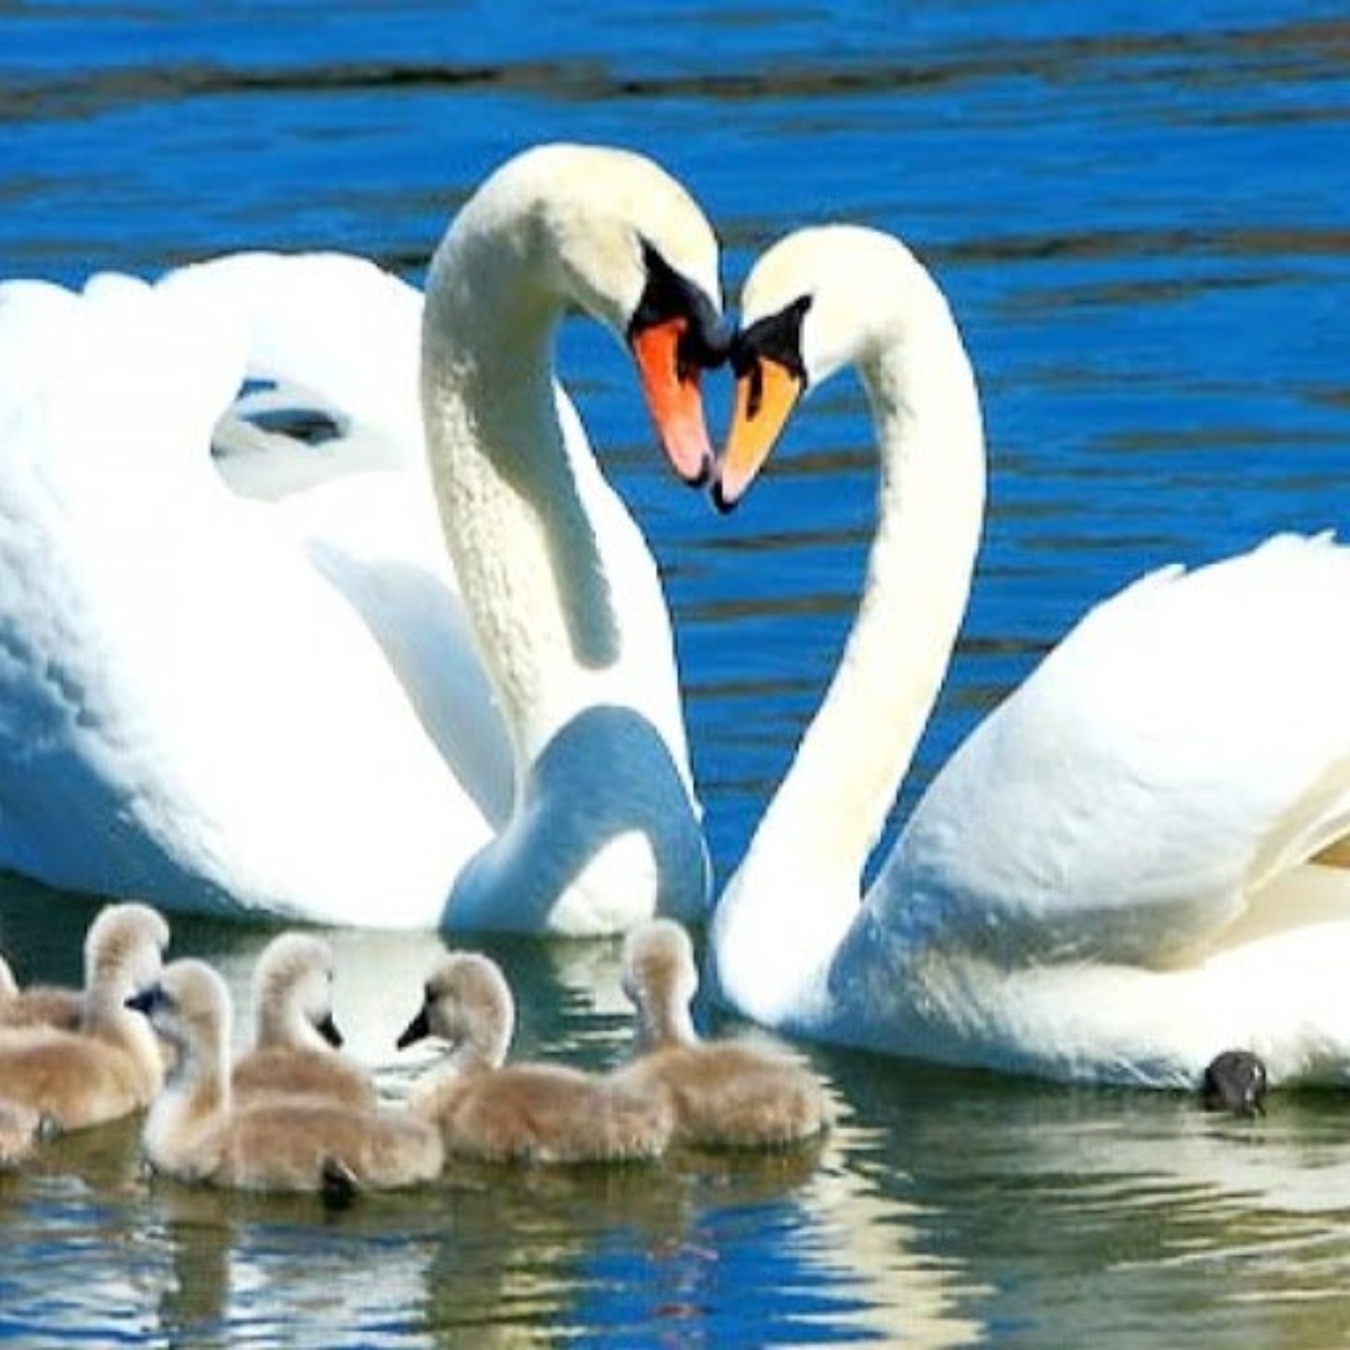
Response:
POLYGON ((0 861, 432 925, 486 826, 366 622, 221 487, 246 367, 230 306, 174 288, 0 292, 0 861))

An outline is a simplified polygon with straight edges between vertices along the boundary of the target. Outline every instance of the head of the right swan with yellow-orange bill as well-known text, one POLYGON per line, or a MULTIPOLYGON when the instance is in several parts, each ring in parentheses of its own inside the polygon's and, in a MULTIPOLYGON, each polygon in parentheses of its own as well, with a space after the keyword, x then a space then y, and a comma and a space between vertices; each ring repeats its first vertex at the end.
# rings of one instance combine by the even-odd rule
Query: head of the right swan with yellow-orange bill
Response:
POLYGON ((802 397, 846 366, 864 370, 903 339, 918 288, 936 288, 892 235, 861 225, 798 230, 764 252, 741 293, 732 339, 736 401, 713 482, 730 510, 749 490, 802 397))

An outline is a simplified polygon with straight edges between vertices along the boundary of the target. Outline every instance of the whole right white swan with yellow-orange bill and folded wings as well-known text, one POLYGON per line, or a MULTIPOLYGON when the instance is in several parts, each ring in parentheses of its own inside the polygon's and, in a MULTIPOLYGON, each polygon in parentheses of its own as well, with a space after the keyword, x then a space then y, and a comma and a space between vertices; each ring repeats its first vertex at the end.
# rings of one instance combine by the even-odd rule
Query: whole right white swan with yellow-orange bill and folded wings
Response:
POLYGON ((745 286, 736 501, 809 383, 857 367, 879 524, 838 671, 714 911, 721 996, 837 1042, 1195 1088, 1219 1052, 1350 1079, 1350 549, 1278 537, 1092 610, 864 863, 937 698, 984 437, 948 305, 890 236, 829 227, 745 286))

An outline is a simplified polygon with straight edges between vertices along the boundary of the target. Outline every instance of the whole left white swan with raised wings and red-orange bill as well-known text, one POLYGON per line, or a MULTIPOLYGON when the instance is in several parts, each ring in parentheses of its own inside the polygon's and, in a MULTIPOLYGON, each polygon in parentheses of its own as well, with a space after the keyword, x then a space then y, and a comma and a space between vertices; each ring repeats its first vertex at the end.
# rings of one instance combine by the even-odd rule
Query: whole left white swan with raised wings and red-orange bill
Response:
POLYGON ((0 288, 0 865, 390 927, 594 933, 706 902, 660 582, 551 350, 571 302, 621 329, 694 473, 716 240, 649 162, 552 146, 493 176, 440 256, 437 493, 423 305, 370 265, 0 288), (246 374, 328 408, 338 450, 236 414, 213 464, 246 374))

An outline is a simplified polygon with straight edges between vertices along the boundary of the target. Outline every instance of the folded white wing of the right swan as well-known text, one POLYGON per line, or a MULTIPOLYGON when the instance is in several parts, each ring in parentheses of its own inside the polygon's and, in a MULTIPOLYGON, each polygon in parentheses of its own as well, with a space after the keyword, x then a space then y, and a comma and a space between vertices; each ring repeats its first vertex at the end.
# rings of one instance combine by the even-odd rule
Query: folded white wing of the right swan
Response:
MULTIPOLYGON (((1350 834, 1347 598, 1350 549, 1280 536, 1103 602, 938 774, 873 911, 1011 959, 1231 940, 1350 834)), ((1318 917, 1350 917, 1338 875, 1318 917)))

